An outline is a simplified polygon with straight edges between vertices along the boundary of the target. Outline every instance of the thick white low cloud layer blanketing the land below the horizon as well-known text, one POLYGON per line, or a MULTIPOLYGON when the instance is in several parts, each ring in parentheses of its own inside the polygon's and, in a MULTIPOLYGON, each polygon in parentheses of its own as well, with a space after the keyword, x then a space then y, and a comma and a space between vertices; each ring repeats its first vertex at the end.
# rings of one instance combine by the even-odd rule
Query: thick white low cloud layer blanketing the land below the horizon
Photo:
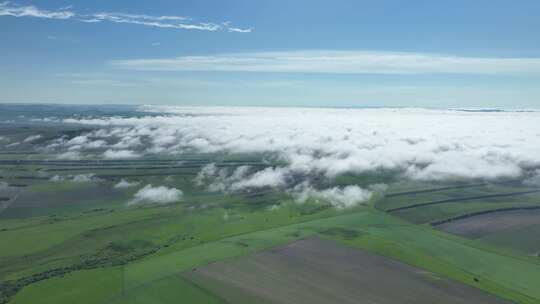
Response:
MULTIPOLYGON (((266 168, 201 169, 196 184, 226 192, 290 191, 314 177, 331 180, 389 170, 413 180, 531 179, 540 168, 540 112, 534 111, 154 106, 141 110, 152 115, 66 119, 101 127, 84 134, 84 140, 51 143, 51 149, 85 153, 99 146, 104 158, 193 152, 265 155, 266 168)), ((375 190, 368 187, 304 187, 294 194, 346 207, 369 199, 375 190)))

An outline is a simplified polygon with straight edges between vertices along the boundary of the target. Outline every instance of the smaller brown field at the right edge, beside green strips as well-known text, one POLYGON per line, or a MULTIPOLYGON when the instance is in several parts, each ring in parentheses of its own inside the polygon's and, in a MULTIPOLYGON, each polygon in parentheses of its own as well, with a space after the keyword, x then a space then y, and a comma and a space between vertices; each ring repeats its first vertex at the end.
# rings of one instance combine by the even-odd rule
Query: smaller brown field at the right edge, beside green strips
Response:
POLYGON ((437 226, 437 229, 478 239, 491 234, 540 224, 540 210, 511 210, 480 214, 437 226))

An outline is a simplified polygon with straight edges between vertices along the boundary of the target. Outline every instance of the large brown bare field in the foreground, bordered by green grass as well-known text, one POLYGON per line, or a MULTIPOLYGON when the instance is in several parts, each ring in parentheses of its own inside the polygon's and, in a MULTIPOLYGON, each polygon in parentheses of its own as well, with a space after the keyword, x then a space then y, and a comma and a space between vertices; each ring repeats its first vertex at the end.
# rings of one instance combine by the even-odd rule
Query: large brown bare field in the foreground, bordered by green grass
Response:
POLYGON ((406 264, 308 238, 183 277, 229 303, 507 303, 406 264))

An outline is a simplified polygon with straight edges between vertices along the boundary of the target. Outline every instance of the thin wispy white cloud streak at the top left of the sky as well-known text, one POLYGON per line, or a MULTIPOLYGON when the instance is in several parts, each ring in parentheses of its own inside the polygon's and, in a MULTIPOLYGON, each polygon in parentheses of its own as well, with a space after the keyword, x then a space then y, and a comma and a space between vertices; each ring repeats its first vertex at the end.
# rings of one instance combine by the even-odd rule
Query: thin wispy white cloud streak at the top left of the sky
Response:
POLYGON ((249 33, 252 30, 251 28, 242 29, 233 27, 229 21, 222 23, 194 22, 191 18, 185 16, 151 16, 145 14, 110 12, 79 14, 73 11, 72 7, 64 7, 57 10, 44 10, 33 5, 19 6, 10 2, 0 2, 0 16, 70 19, 86 23, 113 22, 182 30, 228 31, 237 33, 249 33))

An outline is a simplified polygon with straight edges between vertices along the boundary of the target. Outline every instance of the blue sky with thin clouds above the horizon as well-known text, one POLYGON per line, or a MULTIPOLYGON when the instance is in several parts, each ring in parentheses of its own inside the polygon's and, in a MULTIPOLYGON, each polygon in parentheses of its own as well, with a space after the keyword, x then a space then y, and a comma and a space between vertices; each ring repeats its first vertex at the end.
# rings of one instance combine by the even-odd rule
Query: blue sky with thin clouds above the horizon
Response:
POLYGON ((0 102, 540 108, 540 1, 0 0, 0 102))

